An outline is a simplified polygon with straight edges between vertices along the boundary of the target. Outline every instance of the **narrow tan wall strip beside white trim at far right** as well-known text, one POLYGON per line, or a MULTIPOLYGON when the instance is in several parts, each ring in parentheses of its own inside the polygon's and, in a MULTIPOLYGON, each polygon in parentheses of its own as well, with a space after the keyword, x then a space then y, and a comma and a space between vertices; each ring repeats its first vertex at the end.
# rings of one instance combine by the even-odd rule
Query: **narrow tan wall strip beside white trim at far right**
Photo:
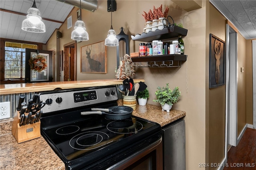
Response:
POLYGON ((253 125, 252 40, 246 40, 246 67, 244 69, 246 70, 246 123, 253 125))

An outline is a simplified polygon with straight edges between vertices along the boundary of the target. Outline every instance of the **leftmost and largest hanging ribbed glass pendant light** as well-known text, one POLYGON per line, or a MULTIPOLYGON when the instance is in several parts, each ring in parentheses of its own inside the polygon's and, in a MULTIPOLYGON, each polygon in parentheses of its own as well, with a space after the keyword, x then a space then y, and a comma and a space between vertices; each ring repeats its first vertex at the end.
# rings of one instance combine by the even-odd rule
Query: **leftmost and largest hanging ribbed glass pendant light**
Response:
POLYGON ((42 22, 41 12, 36 7, 36 2, 28 9, 28 15, 22 22, 21 29, 28 32, 45 32, 45 25, 42 22))

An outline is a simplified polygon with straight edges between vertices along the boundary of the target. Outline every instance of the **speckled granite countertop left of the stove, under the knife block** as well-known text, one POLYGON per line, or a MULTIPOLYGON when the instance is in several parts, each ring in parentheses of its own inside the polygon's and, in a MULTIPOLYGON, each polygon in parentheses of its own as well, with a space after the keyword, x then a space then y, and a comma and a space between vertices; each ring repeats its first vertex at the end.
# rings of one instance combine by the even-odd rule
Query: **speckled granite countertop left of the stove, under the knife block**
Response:
POLYGON ((18 144, 12 121, 0 121, 0 170, 65 170, 64 162, 42 136, 18 144))

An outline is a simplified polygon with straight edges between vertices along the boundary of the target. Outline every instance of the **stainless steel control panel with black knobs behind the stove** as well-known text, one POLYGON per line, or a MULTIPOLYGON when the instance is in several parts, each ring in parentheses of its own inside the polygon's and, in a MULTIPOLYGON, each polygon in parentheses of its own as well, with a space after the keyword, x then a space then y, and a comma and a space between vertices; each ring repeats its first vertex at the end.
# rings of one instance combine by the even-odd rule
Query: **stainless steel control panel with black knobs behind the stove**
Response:
POLYGON ((118 100, 115 86, 46 91, 38 95, 46 103, 41 109, 43 113, 118 100))

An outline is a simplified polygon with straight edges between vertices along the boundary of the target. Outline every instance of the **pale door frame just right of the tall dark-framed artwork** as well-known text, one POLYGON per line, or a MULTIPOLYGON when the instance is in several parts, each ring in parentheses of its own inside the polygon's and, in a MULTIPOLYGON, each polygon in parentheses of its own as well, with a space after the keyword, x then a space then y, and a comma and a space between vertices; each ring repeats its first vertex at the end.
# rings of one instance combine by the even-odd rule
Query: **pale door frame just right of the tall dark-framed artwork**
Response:
POLYGON ((228 144, 237 146, 237 97, 238 97, 238 41, 237 32, 226 24, 226 125, 225 159, 228 158, 228 144), (231 57, 233 56, 233 57, 231 57))

